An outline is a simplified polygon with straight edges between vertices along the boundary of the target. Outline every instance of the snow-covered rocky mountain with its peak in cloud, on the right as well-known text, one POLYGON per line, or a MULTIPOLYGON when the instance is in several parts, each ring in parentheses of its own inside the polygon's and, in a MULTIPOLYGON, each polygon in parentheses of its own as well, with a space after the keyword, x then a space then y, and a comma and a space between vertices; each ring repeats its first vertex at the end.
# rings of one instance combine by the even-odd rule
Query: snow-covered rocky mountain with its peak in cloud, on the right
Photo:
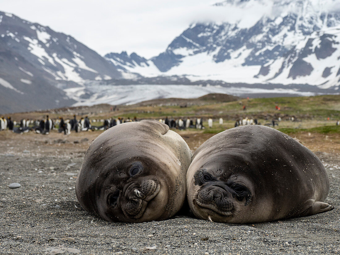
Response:
POLYGON ((227 0, 214 8, 225 18, 191 24, 150 60, 124 52, 105 57, 147 77, 339 88, 340 1, 227 0))

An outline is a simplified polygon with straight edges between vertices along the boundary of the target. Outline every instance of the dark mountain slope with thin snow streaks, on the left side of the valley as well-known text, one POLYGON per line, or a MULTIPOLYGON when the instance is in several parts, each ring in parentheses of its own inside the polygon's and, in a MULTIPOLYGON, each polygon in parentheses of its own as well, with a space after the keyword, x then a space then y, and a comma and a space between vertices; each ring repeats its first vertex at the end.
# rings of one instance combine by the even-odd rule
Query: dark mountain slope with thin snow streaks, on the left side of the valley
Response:
POLYGON ((104 57, 73 37, 0 12, 0 110, 27 111, 75 103, 62 88, 120 78, 104 57))

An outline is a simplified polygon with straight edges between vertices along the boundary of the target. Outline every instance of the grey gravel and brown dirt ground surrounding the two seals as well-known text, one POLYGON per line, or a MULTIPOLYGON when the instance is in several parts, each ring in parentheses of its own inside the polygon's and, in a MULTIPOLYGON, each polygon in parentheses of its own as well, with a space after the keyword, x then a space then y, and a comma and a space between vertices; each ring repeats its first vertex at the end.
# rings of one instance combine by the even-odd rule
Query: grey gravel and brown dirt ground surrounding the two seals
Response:
MULTIPOLYGON (((338 254, 340 134, 297 133, 321 159, 335 209, 305 218, 224 224, 176 216, 111 223, 83 210, 75 180, 91 140, 101 132, 0 132, 0 254, 338 254), (11 189, 11 183, 21 187, 11 189)), ((192 151, 213 134, 179 132, 192 151)))

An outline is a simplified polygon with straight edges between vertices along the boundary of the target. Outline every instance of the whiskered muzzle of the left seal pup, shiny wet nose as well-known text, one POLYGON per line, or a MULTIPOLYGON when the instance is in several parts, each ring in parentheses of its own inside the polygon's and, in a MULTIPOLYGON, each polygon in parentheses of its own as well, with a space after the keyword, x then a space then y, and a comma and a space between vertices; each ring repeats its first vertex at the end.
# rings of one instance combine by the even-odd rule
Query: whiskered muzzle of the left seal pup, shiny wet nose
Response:
POLYGON ((156 197, 159 191, 160 185, 154 181, 149 181, 145 187, 141 185, 141 188, 130 189, 130 194, 127 194, 129 200, 123 210, 125 215, 134 219, 141 218, 148 203, 156 197))

